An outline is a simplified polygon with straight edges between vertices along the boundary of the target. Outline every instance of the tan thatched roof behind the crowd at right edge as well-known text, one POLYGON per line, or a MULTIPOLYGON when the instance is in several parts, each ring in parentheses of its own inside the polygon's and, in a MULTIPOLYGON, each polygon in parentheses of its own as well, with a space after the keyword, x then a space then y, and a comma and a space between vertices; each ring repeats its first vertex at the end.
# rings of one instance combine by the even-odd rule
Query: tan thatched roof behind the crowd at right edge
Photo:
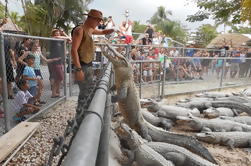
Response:
POLYGON ((250 40, 251 40, 250 34, 240 34, 240 33, 220 34, 207 45, 207 48, 218 48, 223 45, 229 45, 230 47, 242 47, 242 46, 247 46, 247 43, 249 43, 250 40))

